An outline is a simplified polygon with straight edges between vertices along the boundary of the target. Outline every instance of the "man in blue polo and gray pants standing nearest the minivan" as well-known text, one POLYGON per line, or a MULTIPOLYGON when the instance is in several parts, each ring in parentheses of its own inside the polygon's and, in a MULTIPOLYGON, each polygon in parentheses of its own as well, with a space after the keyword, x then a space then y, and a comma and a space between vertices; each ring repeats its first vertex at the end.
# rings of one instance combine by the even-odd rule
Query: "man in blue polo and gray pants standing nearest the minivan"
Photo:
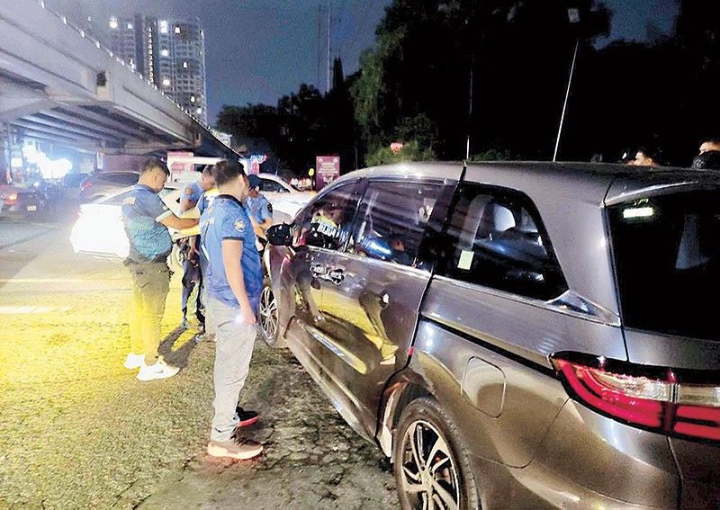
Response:
POLYGON ((255 233, 243 205, 247 185, 237 165, 221 161, 213 168, 220 194, 201 217, 201 250, 207 257, 206 309, 215 333, 215 388, 210 443, 213 457, 251 459, 263 451, 237 434, 236 427, 257 421, 257 413, 238 408, 257 336, 256 313, 263 268, 255 233))

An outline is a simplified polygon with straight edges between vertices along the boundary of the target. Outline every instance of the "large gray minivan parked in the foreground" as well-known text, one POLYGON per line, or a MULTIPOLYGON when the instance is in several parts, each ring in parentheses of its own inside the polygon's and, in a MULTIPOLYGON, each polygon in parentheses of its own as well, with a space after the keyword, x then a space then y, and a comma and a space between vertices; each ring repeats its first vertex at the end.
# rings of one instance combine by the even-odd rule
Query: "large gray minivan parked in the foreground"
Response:
POLYGON ((720 506, 720 175, 376 167, 268 237, 262 334, 403 508, 720 506))

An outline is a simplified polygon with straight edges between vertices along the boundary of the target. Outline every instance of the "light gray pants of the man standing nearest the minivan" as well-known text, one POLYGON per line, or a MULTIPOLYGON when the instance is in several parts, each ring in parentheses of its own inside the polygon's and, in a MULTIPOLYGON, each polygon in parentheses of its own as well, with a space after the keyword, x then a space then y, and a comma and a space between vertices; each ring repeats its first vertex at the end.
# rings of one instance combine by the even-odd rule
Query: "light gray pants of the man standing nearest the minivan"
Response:
POLYGON ((208 296, 205 301, 209 331, 215 331, 215 416, 212 418, 211 441, 228 441, 235 430, 235 408, 240 389, 250 370, 250 358, 257 336, 257 326, 240 324, 240 310, 208 296))

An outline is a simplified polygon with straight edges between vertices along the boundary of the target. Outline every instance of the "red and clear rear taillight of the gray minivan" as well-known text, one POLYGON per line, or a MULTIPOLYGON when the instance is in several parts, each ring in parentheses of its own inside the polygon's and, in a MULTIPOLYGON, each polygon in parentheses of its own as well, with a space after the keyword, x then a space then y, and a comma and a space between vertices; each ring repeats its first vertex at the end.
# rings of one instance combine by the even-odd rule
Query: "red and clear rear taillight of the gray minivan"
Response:
POLYGON ((599 413, 662 434, 720 441, 720 373, 650 367, 556 353, 572 398, 599 413))

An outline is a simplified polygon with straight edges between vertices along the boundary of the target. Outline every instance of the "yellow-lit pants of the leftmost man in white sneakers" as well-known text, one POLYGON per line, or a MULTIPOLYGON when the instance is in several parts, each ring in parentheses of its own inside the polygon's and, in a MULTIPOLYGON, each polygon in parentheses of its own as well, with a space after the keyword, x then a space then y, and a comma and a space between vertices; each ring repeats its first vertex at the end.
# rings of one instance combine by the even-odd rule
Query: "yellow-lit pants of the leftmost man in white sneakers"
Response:
POLYGON ((130 352, 145 354, 145 363, 157 361, 160 323, 170 291, 170 271, 164 262, 127 264, 132 279, 130 352))

